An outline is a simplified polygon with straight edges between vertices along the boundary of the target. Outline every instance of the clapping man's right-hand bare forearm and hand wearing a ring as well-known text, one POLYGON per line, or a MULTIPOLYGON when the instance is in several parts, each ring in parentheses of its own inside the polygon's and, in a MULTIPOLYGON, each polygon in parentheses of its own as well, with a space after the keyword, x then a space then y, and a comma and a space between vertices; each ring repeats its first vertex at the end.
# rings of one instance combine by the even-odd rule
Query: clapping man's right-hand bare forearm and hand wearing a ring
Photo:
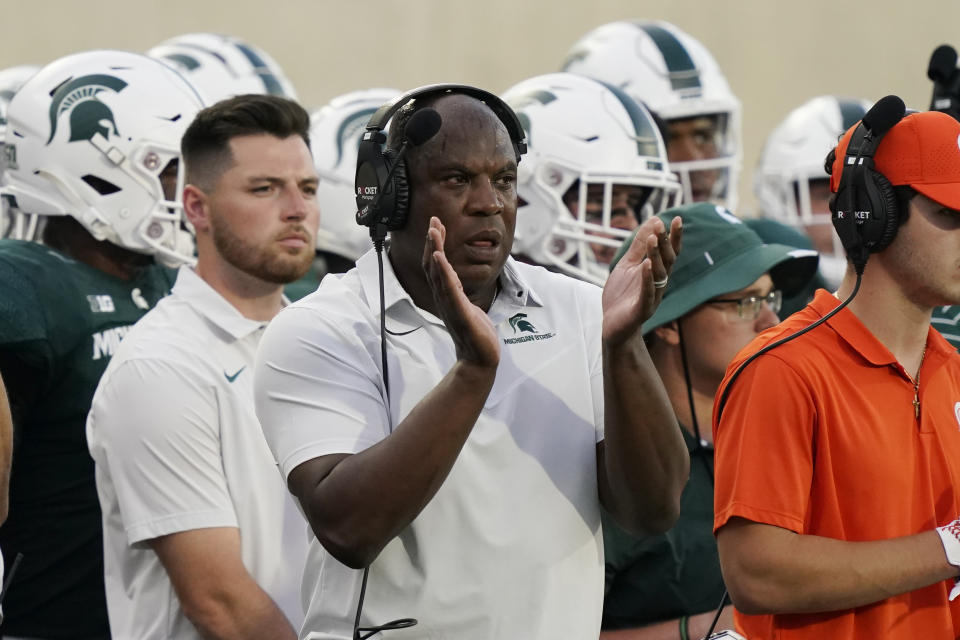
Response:
POLYGON ((654 280, 680 250, 680 218, 669 237, 651 218, 603 290, 604 440, 597 445, 600 500, 627 530, 666 531, 680 513, 690 456, 673 407, 643 343, 641 326, 660 302, 654 280))

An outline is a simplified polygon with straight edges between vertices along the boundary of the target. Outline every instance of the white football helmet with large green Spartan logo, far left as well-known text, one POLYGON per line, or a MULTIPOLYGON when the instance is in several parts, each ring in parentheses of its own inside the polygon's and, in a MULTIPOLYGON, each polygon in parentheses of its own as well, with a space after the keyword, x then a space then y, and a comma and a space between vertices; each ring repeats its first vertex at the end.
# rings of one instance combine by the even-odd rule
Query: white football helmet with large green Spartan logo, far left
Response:
POLYGON ((24 213, 69 215, 97 240, 191 261, 181 225, 180 138, 203 104, 170 67, 125 51, 61 58, 10 102, 6 184, 24 213), (177 167, 176 195, 161 174, 177 167))

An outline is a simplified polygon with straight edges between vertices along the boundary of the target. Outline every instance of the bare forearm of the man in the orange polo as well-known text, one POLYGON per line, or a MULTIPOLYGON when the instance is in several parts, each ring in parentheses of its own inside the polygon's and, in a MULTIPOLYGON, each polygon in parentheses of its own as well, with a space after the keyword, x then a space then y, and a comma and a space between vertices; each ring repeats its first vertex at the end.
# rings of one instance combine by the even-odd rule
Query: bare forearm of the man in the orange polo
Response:
POLYGON ((852 609, 958 574, 933 530, 847 542, 732 518, 717 544, 731 599, 746 614, 852 609))

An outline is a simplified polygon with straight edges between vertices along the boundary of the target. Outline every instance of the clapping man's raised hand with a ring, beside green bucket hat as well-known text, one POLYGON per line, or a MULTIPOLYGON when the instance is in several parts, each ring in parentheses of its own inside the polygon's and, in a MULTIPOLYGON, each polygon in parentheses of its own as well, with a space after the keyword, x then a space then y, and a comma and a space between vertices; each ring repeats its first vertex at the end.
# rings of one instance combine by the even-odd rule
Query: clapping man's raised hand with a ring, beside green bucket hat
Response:
POLYGON ((603 339, 608 345, 635 335, 657 310, 682 238, 679 216, 670 223, 669 234, 656 216, 640 225, 603 287, 603 339))

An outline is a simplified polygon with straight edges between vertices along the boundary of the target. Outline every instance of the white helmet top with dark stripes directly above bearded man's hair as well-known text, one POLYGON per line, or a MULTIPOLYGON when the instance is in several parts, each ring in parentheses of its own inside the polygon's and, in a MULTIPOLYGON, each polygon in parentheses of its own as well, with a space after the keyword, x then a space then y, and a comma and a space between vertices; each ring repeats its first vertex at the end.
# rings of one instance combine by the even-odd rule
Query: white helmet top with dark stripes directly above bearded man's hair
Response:
POLYGON ((213 104, 245 93, 297 99, 293 84, 270 55, 240 38, 214 33, 187 33, 147 52, 173 66, 213 104))

